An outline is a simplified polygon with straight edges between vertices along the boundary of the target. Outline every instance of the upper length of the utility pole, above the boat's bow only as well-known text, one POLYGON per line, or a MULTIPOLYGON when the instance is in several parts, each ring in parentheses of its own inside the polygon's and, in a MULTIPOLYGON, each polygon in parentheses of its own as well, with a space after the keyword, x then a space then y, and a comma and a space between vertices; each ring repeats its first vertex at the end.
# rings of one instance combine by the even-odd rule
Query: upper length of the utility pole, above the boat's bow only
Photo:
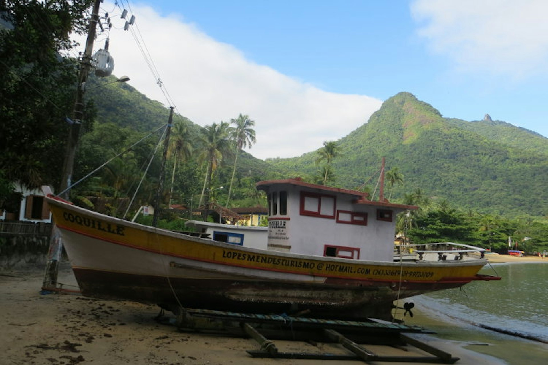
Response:
POLYGON ((80 63, 80 75, 76 87, 76 101, 73 110, 72 124, 68 133, 67 146, 65 152, 65 161, 63 164, 63 173, 61 176, 61 198, 68 199, 68 188, 72 184, 72 173, 74 170, 74 160, 76 156, 76 147, 80 136, 80 127, 82 125, 84 114, 84 93, 85 83, 88 80, 90 68, 92 68, 93 43, 95 41, 95 30, 99 23, 99 7, 101 0, 95 0, 93 4, 92 19, 89 21, 88 38, 85 42, 84 55, 80 63), (66 190, 66 191, 65 191, 66 190))

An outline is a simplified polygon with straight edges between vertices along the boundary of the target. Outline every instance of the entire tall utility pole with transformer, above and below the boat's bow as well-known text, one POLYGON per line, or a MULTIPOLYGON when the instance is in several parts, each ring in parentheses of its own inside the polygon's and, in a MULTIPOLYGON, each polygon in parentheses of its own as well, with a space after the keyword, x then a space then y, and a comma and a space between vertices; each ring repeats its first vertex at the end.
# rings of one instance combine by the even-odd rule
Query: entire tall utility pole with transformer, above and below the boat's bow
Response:
MULTIPOLYGON (((80 64, 80 74, 78 85, 76 87, 76 101, 73 110, 72 124, 68 134, 65 161, 63 164, 63 173, 61 176, 60 192, 61 198, 68 199, 68 188, 71 186, 72 171, 74 169, 74 159, 76 155, 76 146, 80 135, 80 126, 82 125, 84 113, 84 86, 88 79, 89 69, 92 67, 93 42, 95 40, 95 29, 99 23, 99 7, 101 0, 95 0, 92 10, 92 19, 89 21, 88 39, 85 43, 84 55, 80 64)), ((45 267, 44 281, 42 282, 43 291, 51 291, 57 288, 57 276, 59 272, 59 260, 62 252, 61 234, 59 229, 52 224, 52 236, 49 241, 49 250, 47 264, 45 267)))

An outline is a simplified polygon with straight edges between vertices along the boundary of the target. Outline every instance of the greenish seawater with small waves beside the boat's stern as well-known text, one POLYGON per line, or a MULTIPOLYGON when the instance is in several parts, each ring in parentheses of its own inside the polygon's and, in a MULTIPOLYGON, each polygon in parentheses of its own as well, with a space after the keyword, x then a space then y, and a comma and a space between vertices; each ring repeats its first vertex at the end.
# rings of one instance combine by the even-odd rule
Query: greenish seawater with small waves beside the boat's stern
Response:
POLYGON ((461 341, 471 350, 505 364, 538 364, 548 358, 547 263, 487 265, 482 274, 498 274, 500 281, 476 281, 404 301, 418 313, 406 323, 461 341), (445 324, 443 324, 445 323, 445 324), (485 327, 500 332, 489 331, 485 327))

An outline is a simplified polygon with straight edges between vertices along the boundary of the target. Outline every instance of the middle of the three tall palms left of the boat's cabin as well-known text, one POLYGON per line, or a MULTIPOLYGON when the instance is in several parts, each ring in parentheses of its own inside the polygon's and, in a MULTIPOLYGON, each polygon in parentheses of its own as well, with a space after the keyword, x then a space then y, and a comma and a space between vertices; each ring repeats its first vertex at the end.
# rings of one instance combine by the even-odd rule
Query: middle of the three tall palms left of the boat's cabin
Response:
POLYGON ((198 156, 198 160, 207 160, 208 165, 198 206, 202 205, 204 195, 206 205, 209 205, 209 184, 211 183, 213 172, 222 160, 223 155, 230 151, 229 132, 230 125, 225 121, 221 121, 219 124, 206 125, 201 130, 199 140, 203 144, 203 152, 198 156))

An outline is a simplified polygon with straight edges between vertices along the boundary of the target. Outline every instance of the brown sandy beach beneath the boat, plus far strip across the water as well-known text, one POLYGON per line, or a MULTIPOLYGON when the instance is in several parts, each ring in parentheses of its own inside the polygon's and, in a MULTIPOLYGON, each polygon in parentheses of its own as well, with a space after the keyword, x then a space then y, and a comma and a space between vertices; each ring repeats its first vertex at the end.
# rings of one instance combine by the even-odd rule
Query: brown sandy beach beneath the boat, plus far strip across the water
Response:
MULTIPOLYGON (((548 262, 548 258, 489 255, 492 263, 548 262)), ((98 300, 78 294, 41 294, 43 268, 24 267, 0 272, 1 364, 312 364, 314 360, 282 360, 250 357, 259 350, 252 339, 204 333, 185 333, 156 322, 155 305, 98 300)), ((67 263, 59 271, 64 288, 77 289, 67 263)), ((460 357, 458 364, 499 364, 496 358, 464 348, 464 343, 416 335, 460 357)), ((280 351, 351 353, 340 345, 316 346, 276 341, 280 351)), ((387 346, 367 345, 379 355, 407 355, 387 346)), ((341 361, 321 361, 340 364, 341 361)), ((359 361, 351 363, 363 363, 359 361)), ((375 364, 376 362, 369 362, 375 364)))

